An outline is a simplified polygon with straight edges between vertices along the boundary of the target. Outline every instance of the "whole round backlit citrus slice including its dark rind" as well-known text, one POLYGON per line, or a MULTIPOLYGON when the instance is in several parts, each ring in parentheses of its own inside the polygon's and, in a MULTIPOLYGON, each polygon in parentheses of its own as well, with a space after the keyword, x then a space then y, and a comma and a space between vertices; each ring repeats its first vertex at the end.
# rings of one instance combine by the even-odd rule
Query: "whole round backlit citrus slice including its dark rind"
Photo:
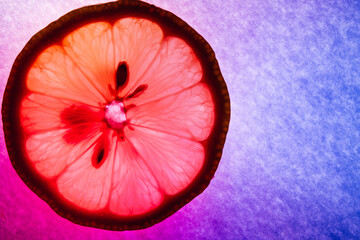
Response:
POLYGON ((140 1, 68 13, 17 57, 2 105, 10 160, 59 215, 111 230, 162 221, 213 178, 230 101, 209 44, 140 1))

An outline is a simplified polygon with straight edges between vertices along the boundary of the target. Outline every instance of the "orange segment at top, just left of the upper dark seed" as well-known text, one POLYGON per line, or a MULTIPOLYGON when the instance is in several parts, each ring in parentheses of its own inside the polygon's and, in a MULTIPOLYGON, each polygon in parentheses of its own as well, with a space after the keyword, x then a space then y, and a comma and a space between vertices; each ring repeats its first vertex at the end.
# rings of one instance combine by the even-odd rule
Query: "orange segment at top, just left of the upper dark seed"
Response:
MULTIPOLYGON (((115 87, 113 81, 114 43, 112 26, 97 22, 88 24, 69 34, 62 42, 66 54, 86 76, 90 83, 106 101, 112 100, 108 86, 115 87)), ((79 79, 69 76, 74 81, 79 79)))

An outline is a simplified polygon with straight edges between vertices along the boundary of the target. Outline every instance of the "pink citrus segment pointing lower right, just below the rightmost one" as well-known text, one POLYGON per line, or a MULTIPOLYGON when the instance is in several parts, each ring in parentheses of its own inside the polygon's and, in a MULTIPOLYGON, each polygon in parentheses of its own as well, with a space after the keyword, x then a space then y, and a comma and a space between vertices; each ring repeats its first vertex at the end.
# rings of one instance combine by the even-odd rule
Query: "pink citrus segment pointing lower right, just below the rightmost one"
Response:
POLYGON ((188 186, 203 165, 204 147, 198 142, 143 127, 125 130, 136 151, 146 159, 162 192, 168 195, 188 186))

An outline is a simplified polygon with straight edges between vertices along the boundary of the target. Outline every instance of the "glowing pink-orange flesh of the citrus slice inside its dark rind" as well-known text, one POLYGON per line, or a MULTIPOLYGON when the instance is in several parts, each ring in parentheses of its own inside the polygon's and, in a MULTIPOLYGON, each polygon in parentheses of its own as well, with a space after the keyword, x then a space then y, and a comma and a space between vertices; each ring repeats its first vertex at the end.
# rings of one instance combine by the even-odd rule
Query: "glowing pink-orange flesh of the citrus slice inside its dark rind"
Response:
POLYGON ((192 49, 149 20, 81 27, 43 51, 27 75, 28 158, 80 208, 148 212, 204 164, 214 103, 202 77, 192 49), (120 63, 126 81, 116 79, 120 63))

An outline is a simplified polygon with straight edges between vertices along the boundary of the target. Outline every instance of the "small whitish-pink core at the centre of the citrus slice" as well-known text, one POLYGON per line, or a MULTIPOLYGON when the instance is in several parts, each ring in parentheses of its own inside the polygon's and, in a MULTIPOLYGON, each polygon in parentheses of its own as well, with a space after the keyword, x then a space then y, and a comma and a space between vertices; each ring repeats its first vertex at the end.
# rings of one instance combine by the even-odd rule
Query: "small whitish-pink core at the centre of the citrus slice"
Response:
POLYGON ((114 129, 121 129, 126 122, 125 107, 122 102, 112 101, 105 109, 105 120, 114 129))

